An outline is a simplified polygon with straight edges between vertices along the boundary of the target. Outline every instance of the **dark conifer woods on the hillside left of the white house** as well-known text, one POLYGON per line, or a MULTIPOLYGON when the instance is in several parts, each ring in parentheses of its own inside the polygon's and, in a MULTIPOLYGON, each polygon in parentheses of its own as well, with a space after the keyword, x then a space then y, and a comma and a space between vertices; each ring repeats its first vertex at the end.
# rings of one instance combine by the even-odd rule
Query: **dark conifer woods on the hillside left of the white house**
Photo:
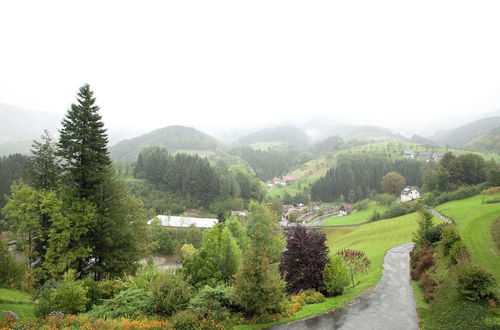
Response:
POLYGON ((398 172, 408 185, 420 186, 422 173, 432 166, 412 159, 393 160, 378 153, 343 155, 335 167, 311 186, 311 199, 355 202, 367 198, 382 192, 381 179, 388 172, 398 172))

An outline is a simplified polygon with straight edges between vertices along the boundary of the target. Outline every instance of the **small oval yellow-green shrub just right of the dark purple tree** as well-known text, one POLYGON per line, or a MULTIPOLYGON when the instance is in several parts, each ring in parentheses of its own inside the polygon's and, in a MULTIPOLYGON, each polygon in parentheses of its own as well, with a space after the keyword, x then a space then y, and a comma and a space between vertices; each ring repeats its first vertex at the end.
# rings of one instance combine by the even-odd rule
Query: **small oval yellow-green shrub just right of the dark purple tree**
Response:
POLYGON ((323 270, 323 288, 329 296, 341 295, 349 286, 350 277, 344 261, 339 255, 330 254, 323 270))

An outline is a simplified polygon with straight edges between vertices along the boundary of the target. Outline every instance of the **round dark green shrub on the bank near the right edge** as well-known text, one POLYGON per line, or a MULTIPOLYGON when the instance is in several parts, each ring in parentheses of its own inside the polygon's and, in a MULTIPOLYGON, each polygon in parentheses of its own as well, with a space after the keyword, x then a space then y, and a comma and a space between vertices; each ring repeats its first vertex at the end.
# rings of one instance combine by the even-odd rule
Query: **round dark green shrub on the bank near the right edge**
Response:
POLYGON ((496 281, 486 270, 470 264, 457 271, 457 290, 469 300, 479 301, 494 295, 496 281))

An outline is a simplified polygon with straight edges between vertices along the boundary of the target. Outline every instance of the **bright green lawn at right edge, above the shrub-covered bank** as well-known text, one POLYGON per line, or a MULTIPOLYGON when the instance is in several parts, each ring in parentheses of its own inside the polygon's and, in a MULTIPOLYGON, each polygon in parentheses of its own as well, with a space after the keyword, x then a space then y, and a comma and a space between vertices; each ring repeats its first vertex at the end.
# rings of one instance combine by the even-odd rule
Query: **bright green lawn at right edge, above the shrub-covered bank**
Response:
POLYGON ((498 198, 500 194, 477 195, 439 205, 436 210, 455 220, 473 261, 491 272, 500 284, 500 251, 491 236, 493 221, 500 218, 500 203, 483 204, 483 200, 498 198))

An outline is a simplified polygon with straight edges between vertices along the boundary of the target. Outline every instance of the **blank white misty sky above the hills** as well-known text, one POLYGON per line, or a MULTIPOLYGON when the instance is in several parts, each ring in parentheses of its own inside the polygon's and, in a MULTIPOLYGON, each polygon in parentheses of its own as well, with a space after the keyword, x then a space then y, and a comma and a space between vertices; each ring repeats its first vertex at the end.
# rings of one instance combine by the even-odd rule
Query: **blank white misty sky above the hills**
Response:
POLYGON ((463 118, 500 109, 498 1, 2 1, 0 102, 110 126, 463 118))

